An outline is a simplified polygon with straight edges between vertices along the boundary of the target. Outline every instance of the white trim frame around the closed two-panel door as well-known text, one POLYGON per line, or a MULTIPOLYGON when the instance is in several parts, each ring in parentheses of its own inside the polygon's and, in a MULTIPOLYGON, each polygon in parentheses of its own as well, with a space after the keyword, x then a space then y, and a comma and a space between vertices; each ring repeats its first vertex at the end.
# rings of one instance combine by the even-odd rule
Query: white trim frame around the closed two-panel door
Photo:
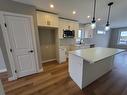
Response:
POLYGON ((37 43, 36 43, 36 37, 35 37, 35 29, 34 29, 34 22, 33 22, 33 16, 31 15, 23 15, 23 14, 17 14, 17 13, 10 13, 10 12, 3 12, 0 11, 0 25, 2 28, 2 32, 3 32, 3 37, 4 37, 4 41, 5 41, 5 47, 7 50, 7 55, 9 58, 9 64, 10 64, 10 68, 11 68, 11 73, 12 76, 8 78, 9 81, 11 80, 16 80, 18 77, 15 73, 15 63, 14 63, 14 58, 12 56, 12 53, 10 52, 11 49, 11 45, 9 42, 9 37, 8 37, 8 31, 7 28, 5 27, 5 18, 4 15, 10 15, 10 16, 21 16, 21 17, 27 17, 30 18, 31 20, 31 28, 32 28, 32 42, 33 42, 33 48, 35 50, 35 65, 36 65, 36 73, 40 72, 39 69, 39 61, 38 61, 38 53, 37 53, 37 43))

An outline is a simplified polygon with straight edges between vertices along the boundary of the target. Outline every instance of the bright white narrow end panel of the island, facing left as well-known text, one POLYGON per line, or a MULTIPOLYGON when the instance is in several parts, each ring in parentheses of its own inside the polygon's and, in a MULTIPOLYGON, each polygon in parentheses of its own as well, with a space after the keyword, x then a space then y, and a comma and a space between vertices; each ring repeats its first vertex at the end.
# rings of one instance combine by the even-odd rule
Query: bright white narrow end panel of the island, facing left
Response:
POLYGON ((72 80, 82 89, 83 59, 69 54, 69 74, 72 80))

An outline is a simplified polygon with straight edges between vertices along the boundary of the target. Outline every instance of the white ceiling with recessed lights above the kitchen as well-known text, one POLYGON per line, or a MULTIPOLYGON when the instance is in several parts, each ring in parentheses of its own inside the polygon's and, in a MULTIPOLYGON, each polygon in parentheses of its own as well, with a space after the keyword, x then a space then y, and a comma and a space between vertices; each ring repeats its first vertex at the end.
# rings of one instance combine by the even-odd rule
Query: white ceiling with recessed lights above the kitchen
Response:
MULTIPOLYGON (((46 10, 58 13, 61 17, 75 19, 80 23, 89 23, 91 19, 87 16, 92 16, 94 0, 14 0, 25 4, 36 6, 37 9, 46 10), (54 4, 55 8, 51 9, 50 4, 54 4), (77 12, 76 15, 72 11, 77 12)), ((113 1, 114 5, 111 9, 111 26, 126 27, 127 26, 127 0, 97 0, 96 18, 102 20, 99 25, 105 25, 107 19, 108 6, 107 4, 113 1)))

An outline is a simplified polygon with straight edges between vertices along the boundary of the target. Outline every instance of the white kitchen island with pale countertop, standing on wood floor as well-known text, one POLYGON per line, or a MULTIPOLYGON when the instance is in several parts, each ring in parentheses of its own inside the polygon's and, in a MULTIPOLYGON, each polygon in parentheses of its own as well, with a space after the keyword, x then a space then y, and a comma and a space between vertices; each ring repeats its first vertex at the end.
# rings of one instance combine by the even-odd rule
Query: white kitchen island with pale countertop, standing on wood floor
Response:
POLYGON ((69 74, 82 89, 109 72, 114 56, 124 52, 113 48, 88 48, 69 52, 69 74))

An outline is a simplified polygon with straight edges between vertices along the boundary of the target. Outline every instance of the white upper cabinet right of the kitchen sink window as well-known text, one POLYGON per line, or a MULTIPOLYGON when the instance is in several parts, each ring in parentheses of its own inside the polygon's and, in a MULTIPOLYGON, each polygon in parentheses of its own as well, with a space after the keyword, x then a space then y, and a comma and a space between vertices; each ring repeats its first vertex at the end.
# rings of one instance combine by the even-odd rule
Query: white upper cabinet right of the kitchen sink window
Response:
POLYGON ((94 30, 91 29, 90 24, 85 25, 85 38, 93 38, 94 30))

